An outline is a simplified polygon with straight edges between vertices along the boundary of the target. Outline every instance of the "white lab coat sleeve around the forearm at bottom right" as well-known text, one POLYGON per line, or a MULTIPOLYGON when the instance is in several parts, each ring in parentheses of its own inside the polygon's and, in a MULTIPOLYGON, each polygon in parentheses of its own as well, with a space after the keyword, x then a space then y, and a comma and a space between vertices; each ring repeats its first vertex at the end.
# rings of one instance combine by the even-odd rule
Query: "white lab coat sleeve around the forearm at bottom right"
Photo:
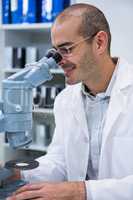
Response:
POLYGON ((85 184, 87 200, 133 199, 133 176, 121 179, 89 180, 85 184))

